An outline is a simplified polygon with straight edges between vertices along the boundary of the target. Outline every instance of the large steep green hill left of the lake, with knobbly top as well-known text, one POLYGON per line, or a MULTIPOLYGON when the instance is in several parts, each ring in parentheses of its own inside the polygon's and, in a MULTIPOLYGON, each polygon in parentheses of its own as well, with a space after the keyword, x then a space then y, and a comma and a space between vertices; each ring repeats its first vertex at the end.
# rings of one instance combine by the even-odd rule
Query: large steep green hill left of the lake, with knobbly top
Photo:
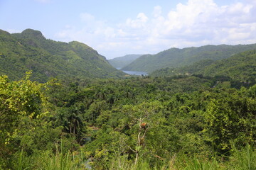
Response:
POLYGON ((0 30, 0 74, 21 79, 28 70, 32 79, 47 81, 50 77, 66 79, 86 77, 122 77, 105 57, 81 42, 56 42, 46 39, 38 30, 26 29, 10 34, 0 30))

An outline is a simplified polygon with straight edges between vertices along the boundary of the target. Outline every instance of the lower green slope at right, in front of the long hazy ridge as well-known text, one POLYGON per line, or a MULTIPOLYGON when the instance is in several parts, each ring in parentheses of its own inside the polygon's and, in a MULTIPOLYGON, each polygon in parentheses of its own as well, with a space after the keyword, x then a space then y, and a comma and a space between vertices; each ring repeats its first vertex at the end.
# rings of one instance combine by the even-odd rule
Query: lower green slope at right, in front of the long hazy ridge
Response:
POLYGON ((186 67, 165 68, 153 72, 154 77, 202 74, 204 77, 223 76, 238 81, 255 81, 256 50, 240 52, 228 59, 201 60, 186 67))

